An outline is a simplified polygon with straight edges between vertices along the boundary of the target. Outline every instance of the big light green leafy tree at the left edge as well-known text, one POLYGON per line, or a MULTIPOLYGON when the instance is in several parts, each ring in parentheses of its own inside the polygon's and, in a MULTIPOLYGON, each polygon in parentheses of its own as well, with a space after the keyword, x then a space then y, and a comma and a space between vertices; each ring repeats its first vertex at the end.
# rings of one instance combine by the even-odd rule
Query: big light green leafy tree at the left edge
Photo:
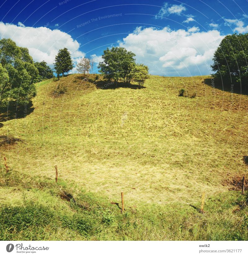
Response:
POLYGON ((36 95, 35 67, 27 48, 18 47, 11 39, 0 40, 0 105, 18 101, 26 105, 36 95))

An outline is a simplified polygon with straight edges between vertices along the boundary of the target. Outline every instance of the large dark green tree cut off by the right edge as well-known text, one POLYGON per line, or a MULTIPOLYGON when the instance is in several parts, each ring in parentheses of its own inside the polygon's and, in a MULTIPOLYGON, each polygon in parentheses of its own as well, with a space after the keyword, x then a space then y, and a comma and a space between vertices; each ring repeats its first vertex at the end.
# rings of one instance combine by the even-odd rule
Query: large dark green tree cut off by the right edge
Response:
POLYGON ((246 89, 248 85, 248 33, 232 34, 222 39, 215 51, 212 70, 215 78, 234 84, 241 82, 246 89))

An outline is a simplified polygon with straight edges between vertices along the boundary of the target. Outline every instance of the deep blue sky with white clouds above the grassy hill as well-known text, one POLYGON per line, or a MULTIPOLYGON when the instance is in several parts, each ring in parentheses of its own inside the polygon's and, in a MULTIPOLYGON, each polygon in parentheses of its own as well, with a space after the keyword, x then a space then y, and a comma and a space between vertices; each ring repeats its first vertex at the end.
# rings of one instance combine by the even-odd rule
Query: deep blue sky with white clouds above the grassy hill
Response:
POLYGON ((247 0, 1 0, 0 38, 51 67, 66 47, 75 64, 93 57, 97 73, 104 49, 121 46, 152 75, 208 75, 221 40, 248 33, 247 15, 247 0))

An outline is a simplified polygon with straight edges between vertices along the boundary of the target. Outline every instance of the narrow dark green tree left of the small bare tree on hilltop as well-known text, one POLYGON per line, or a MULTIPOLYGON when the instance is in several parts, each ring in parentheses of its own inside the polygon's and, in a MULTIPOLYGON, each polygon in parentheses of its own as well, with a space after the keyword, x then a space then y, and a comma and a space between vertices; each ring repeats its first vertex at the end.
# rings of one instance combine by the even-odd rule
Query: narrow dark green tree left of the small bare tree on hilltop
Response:
POLYGON ((69 53, 67 48, 59 50, 58 54, 55 57, 55 63, 53 64, 58 79, 61 73, 63 76, 65 72, 69 72, 73 69, 73 61, 71 59, 71 54, 69 53))

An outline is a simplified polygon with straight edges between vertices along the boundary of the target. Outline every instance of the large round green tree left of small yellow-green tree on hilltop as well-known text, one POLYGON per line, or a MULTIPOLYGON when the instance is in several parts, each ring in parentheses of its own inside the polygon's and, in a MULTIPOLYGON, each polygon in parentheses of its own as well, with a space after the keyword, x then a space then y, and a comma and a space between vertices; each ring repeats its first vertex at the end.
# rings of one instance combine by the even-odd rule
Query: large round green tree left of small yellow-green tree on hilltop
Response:
POLYGON ((130 73, 135 66, 135 54, 128 52, 123 47, 112 47, 104 50, 102 55, 103 62, 100 62, 98 68, 104 78, 117 82, 123 79, 126 83, 130 83, 130 73))

